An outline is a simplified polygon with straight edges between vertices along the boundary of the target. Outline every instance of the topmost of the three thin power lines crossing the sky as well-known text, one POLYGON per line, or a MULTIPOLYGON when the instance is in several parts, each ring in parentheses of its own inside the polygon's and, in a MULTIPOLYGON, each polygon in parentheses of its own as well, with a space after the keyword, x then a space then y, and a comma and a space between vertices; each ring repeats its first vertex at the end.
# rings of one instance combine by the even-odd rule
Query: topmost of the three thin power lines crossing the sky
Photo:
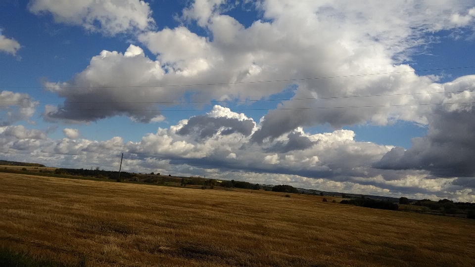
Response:
MULTIPOLYGON (((240 85, 240 84, 259 84, 259 83, 278 83, 278 82, 296 82, 296 81, 308 81, 308 80, 321 80, 321 79, 335 79, 335 78, 350 78, 350 77, 362 77, 372 75, 385 75, 385 74, 401 74, 412 72, 427 72, 427 71, 441 71, 441 70, 457 70, 457 69, 470 69, 470 67, 454 67, 454 68, 438 68, 427 70, 411 70, 411 71, 395 71, 395 72, 380 72, 380 73, 368 73, 368 74, 354 74, 354 75, 340 75, 340 76, 326 76, 326 77, 311 77, 311 78, 298 78, 298 79, 283 79, 283 80, 267 80, 267 81, 250 81, 250 82, 234 82, 234 83, 209 83, 209 84, 185 84, 185 85, 149 85, 149 86, 96 86, 96 87, 61 87, 61 89, 96 89, 96 88, 160 88, 160 87, 192 87, 192 86, 216 86, 216 85, 240 85)), ((44 87, 7 87, 12 89, 41 89, 44 87)))

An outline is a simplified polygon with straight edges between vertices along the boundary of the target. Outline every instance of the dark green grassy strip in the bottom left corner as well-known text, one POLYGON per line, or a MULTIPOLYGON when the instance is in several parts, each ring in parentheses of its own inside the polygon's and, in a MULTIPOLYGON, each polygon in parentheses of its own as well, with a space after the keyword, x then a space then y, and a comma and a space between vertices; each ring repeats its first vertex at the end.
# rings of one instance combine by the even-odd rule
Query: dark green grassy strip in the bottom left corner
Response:
POLYGON ((86 257, 77 264, 66 264, 20 253, 11 248, 0 248, 0 266, 2 267, 86 267, 86 257))

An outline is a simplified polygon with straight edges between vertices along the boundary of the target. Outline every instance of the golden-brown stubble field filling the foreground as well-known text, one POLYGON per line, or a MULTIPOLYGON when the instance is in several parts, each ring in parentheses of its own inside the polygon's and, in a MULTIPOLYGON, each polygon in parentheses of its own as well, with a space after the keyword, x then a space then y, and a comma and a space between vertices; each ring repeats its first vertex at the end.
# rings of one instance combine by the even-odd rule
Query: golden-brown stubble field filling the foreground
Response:
POLYGON ((475 266, 474 229, 319 196, 0 173, 0 246, 88 266, 475 266))

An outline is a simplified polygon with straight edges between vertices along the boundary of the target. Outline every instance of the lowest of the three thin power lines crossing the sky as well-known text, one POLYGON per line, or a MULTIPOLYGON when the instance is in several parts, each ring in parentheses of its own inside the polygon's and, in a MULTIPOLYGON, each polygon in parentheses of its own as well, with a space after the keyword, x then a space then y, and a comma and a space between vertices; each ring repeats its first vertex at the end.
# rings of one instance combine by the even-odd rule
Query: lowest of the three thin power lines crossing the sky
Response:
MULTIPOLYGON (((295 107, 295 108, 246 108, 246 109, 232 109, 223 108, 218 110, 231 111, 252 111, 252 110, 298 110, 298 109, 331 109, 331 108, 371 108, 371 107, 403 107, 403 106, 429 106, 429 105, 454 105, 454 104, 474 104, 475 102, 456 102, 456 103, 420 103, 420 104, 400 104, 400 105, 371 105, 371 106, 336 106, 336 107, 295 107)), ((40 107, 40 109, 46 109, 40 107)), ((158 109, 100 109, 100 108, 58 108, 58 110, 104 110, 104 111, 196 111, 195 109, 177 109, 177 110, 158 110, 158 109)))

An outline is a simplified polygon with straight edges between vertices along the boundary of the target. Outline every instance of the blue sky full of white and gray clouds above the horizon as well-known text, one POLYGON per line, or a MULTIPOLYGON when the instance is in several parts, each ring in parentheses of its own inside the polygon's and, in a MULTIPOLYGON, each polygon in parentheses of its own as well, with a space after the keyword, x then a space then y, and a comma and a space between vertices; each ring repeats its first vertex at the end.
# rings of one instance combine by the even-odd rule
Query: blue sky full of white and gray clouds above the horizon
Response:
POLYGON ((0 159, 475 202, 474 0, 2 0, 0 159))

